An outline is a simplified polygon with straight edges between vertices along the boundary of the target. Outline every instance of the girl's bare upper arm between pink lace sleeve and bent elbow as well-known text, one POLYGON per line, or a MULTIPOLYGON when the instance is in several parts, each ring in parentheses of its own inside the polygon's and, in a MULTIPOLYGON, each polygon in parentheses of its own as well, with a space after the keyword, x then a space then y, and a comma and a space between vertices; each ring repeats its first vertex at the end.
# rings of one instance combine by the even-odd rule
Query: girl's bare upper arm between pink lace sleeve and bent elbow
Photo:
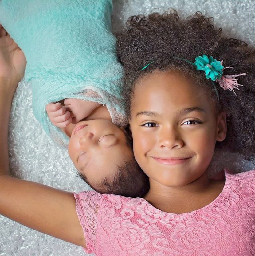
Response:
MULTIPOLYGON (((6 173, 6 170, 1 168, 0 172, 6 173)), ((86 247, 72 193, 5 174, 0 177, 0 214, 45 234, 86 247)))

